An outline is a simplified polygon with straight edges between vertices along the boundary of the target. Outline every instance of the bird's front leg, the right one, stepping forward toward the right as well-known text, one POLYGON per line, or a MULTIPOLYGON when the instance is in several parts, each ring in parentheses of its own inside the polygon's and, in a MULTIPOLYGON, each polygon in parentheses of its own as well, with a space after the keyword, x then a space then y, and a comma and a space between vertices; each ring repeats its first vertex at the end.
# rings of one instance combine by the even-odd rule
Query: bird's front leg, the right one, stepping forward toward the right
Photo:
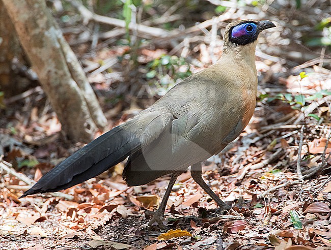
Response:
POLYGON ((231 208, 224 201, 219 199, 219 197, 211 190, 208 184, 202 178, 202 164, 196 163, 191 166, 191 176, 192 178, 202 187, 202 189, 217 203, 221 211, 225 211, 231 208))

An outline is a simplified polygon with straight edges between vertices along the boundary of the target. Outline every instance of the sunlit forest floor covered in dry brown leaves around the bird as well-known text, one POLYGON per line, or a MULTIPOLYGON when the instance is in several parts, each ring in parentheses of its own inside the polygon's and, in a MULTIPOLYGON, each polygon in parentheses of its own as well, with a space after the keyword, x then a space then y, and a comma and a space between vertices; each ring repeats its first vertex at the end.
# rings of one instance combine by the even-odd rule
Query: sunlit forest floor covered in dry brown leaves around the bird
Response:
MULTIPOLYGON (((279 23, 283 24, 261 39, 265 52, 257 53, 259 97, 254 117, 238 140, 204 163, 204 179, 232 204, 230 211, 218 213, 188 170, 170 195, 166 229, 149 227, 145 212, 157 208, 170 177, 128 187, 121 175, 124 163, 65 191, 18 199, 82 146, 72 145, 61 134, 61 124, 37 86, 6 99, 7 108, 1 110, 0 249, 331 249, 331 71, 321 63, 323 56, 329 57, 312 53, 316 60, 308 62, 282 58, 289 46, 284 45, 284 22, 279 23)), ((206 46, 200 35, 189 43, 194 52, 188 53, 185 46, 176 49, 181 55, 188 53, 192 72, 221 53, 215 45, 209 53, 211 45, 206 46)), ((302 58, 309 54, 295 48, 302 58)), ((151 79, 145 77, 147 62, 169 52, 164 47, 135 50, 141 66, 134 70, 126 58, 128 46, 103 46, 93 53, 85 53, 86 44, 74 49, 109 129, 152 104, 159 98, 155 92, 164 90, 150 89, 151 79), (93 69, 109 57, 122 60, 113 62, 111 72, 93 69), (133 71, 131 77, 128 72, 133 71), (133 89, 133 81, 143 82, 143 95, 107 101, 107 89, 116 99, 133 89)))

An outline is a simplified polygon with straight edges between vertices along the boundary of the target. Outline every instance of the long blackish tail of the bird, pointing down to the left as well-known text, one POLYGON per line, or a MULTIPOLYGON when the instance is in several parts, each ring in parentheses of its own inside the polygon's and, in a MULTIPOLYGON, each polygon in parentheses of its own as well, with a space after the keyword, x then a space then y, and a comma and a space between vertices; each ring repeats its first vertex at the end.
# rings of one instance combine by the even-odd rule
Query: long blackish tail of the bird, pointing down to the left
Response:
POLYGON ((46 192, 57 192, 93 178, 123 161, 140 148, 133 133, 116 127, 72 154, 45 174, 20 198, 46 192))

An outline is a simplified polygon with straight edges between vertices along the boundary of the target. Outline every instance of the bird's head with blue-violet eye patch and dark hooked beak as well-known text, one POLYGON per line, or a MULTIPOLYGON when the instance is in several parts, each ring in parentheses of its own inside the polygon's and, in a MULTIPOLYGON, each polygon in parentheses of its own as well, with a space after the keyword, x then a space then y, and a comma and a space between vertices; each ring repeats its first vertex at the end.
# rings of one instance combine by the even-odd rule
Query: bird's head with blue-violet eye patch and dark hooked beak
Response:
POLYGON ((228 47, 256 44, 255 41, 263 30, 275 26, 270 21, 242 20, 232 22, 225 30, 224 47, 227 49, 228 47))

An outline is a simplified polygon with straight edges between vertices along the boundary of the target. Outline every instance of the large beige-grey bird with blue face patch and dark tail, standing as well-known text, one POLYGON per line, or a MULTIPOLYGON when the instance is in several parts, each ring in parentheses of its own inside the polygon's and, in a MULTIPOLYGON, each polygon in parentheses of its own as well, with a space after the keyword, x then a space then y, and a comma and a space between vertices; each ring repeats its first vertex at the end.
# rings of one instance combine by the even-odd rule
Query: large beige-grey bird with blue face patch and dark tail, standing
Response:
POLYGON ((148 184, 171 174, 166 193, 149 225, 162 226, 177 177, 190 166, 192 178, 217 203, 231 208, 202 178, 202 163, 236 139, 253 116, 257 96, 255 50, 271 21, 239 20, 227 25, 220 59, 171 88, 132 119, 82 147, 41 177, 20 198, 57 192, 127 162, 128 186, 148 184))

